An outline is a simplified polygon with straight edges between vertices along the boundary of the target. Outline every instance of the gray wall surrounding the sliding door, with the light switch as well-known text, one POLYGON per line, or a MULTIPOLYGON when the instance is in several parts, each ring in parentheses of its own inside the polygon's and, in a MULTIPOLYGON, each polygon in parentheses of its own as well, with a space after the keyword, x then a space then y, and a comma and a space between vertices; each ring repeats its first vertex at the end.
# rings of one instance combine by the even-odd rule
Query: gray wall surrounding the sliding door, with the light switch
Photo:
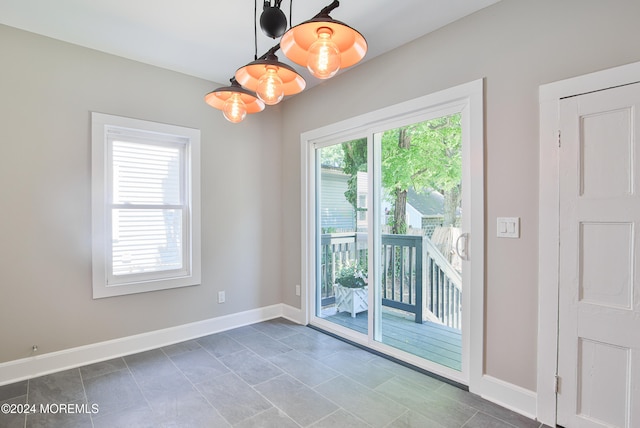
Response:
MULTIPOLYGON (((301 132, 486 78, 485 367, 535 391, 538 87, 639 61, 638 18, 637 0, 503 0, 287 101, 285 259, 300 258, 301 132), (495 238, 498 216, 521 217, 521 238, 495 238)), ((283 272, 296 307, 300 275, 295 263, 283 272)))

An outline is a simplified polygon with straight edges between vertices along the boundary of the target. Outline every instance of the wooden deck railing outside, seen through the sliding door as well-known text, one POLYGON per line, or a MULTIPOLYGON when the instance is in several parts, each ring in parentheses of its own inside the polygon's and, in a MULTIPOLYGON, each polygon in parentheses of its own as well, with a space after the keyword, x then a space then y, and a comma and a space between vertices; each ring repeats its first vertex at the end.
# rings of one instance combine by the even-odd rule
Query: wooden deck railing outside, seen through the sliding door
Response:
MULTIPOLYGON (((336 270, 347 261, 366 263, 366 234, 324 234, 321 242, 322 306, 335 303, 336 270)), ((382 235, 382 304, 461 328, 462 278, 431 241, 414 235, 382 235)))

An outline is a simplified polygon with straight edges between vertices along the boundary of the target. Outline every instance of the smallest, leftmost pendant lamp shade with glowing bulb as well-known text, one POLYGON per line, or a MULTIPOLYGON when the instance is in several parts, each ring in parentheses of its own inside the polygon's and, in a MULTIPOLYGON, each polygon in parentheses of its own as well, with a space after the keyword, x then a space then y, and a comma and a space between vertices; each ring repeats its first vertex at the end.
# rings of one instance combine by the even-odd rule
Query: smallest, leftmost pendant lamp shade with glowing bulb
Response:
POLYGON ((232 123, 242 122, 247 114, 264 110, 264 103, 256 94, 240 86, 235 79, 231 79, 231 86, 209 92, 204 100, 211 107, 222 110, 225 119, 232 123))

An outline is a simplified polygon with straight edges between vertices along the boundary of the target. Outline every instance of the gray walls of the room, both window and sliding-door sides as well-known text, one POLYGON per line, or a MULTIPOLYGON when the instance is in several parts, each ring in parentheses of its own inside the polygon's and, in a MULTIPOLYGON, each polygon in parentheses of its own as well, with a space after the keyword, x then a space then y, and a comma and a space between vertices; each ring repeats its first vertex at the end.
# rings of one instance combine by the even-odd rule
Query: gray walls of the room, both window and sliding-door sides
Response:
POLYGON ((486 372, 535 390, 538 86, 639 61, 638 17, 637 0, 503 0, 240 126, 202 101, 216 84, 0 26, 0 363, 300 307, 300 133, 485 77, 486 372), (90 111, 202 130, 202 285, 92 300, 90 111), (503 215, 521 239, 495 238, 503 215))

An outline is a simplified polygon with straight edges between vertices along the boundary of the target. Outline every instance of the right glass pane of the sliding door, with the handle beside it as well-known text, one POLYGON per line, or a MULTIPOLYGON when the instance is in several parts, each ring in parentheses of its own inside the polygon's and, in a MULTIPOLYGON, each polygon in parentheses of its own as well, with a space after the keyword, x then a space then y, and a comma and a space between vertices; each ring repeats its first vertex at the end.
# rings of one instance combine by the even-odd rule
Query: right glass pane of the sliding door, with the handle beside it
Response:
POLYGON ((462 369, 460 114, 374 135, 379 179, 374 339, 462 369))

